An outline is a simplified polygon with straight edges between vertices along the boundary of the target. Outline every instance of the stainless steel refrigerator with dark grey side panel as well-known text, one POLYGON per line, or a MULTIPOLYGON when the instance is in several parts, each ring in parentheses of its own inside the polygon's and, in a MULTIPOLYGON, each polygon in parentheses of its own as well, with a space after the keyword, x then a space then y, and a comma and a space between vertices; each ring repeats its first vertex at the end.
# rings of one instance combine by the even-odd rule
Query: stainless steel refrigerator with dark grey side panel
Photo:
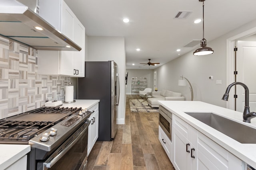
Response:
POLYGON ((85 77, 78 78, 78 99, 99 99, 98 141, 114 139, 120 85, 114 61, 85 62, 85 77))

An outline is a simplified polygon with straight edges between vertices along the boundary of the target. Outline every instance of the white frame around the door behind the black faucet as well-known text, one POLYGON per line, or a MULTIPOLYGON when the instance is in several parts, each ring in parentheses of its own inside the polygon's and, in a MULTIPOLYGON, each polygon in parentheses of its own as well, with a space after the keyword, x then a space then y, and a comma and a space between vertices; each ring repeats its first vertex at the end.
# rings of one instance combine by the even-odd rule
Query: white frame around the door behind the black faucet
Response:
MULTIPOLYGON (((235 35, 234 37, 230 37, 226 40, 226 49, 227 49, 227 68, 226 68, 226 85, 228 86, 232 82, 234 82, 234 47, 235 47, 235 41, 237 41, 240 38, 250 36, 252 34, 256 33, 256 27, 249 29, 247 31, 244 31, 238 35, 235 35)), ((239 50, 239 49, 238 49, 239 50)), ((234 90, 234 88, 232 89, 234 90)), ((226 108, 228 109, 234 109, 234 101, 230 100, 226 103, 226 108)))

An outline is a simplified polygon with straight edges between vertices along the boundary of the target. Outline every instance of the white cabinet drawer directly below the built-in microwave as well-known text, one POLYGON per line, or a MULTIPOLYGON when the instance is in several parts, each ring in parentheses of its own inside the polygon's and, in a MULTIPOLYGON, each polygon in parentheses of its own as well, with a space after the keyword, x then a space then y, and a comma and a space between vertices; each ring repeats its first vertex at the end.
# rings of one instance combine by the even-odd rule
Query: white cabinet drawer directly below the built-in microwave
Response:
POLYGON ((167 135, 164 133, 164 131, 162 130, 162 128, 159 126, 158 127, 159 130, 158 130, 158 138, 159 138, 159 141, 160 143, 162 144, 167 156, 170 158, 171 160, 171 145, 172 145, 172 142, 170 141, 170 139, 167 137, 167 135))

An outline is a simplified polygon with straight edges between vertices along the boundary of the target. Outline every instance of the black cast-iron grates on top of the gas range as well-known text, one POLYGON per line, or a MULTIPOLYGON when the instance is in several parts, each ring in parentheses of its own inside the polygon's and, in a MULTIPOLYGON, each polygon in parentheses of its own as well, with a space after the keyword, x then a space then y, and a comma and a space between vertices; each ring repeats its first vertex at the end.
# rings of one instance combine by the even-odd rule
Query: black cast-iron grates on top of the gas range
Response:
POLYGON ((32 139, 36 135, 39 135, 43 131, 50 129, 53 125, 56 125, 60 121, 66 119, 70 115, 76 113, 82 108, 77 107, 41 107, 38 109, 34 109, 32 111, 28 111, 25 113, 21 113, 19 115, 14 115, 12 117, 7 117, 0 120, 0 143, 28 143, 28 140, 32 139), (61 119, 57 121, 17 121, 12 120, 16 117, 20 117, 24 114, 26 116, 30 113, 44 113, 47 117, 47 114, 58 113, 65 114, 61 119))

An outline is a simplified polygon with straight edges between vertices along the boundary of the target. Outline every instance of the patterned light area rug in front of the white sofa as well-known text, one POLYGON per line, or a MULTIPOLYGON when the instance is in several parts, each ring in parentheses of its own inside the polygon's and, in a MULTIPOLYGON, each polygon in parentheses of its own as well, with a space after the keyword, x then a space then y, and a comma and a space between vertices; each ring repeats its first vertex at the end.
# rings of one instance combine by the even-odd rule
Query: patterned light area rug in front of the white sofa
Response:
POLYGON ((131 112, 158 112, 157 107, 148 106, 148 101, 142 102, 143 99, 130 99, 131 112), (142 102, 142 103, 141 103, 142 102))

